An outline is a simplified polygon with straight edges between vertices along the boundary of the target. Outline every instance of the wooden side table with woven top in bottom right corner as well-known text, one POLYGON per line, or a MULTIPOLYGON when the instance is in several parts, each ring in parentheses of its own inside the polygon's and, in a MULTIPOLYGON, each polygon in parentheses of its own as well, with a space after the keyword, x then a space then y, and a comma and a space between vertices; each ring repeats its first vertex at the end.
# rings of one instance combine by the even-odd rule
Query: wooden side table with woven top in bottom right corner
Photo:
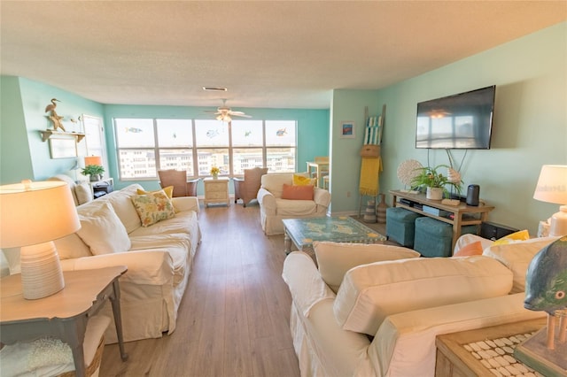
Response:
POLYGON ((518 375, 510 371, 540 375, 531 367, 517 361, 513 352, 516 345, 524 340, 525 335, 531 335, 545 324, 545 318, 532 319, 438 335, 435 340, 437 346, 435 375, 442 377, 499 375, 494 371, 501 375, 518 375), (507 372, 502 373, 500 368, 507 372))

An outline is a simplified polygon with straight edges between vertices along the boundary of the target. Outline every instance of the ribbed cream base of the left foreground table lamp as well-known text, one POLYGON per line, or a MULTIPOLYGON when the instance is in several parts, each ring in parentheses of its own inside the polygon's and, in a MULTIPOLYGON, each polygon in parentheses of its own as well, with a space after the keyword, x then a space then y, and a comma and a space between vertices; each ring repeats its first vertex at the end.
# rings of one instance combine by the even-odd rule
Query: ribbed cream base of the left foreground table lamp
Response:
POLYGON ((52 241, 22 247, 19 258, 24 298, 35 300, 51 296, 65 287, 57 249, 52 241))

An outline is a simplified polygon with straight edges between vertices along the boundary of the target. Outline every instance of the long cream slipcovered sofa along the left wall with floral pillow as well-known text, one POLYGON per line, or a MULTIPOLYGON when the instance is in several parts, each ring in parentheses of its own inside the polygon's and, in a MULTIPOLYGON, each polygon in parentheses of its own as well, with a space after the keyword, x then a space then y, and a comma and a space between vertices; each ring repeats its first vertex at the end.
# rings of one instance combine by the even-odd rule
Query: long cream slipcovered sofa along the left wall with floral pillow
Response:
MULTIPOLYGON (((197 197, 174 197, 175 217, 143 227, 134 184, 77 207, 82 228, 55 241, 64 271, 126 265, 120 277, 124 341, 159 338, 175 330, 177 310, 200 242, 197 197)), ((5 252, 5 250, 4 250, 5 252)), ((7 253, 7 256, 10 255, 7 253)), ((10 255, 11 273, 19 256, 10 255)), ((110 304, 101 313, 113 318, 110 304)), ((105 342, 117 342, 114 322, 105 342)))

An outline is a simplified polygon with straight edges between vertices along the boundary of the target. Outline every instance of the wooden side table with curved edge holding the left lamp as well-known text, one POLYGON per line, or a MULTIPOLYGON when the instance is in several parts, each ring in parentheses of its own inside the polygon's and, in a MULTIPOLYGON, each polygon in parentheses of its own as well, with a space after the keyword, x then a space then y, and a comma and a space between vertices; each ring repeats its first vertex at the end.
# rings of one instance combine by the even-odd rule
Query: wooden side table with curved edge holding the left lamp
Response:
POLYGON ((0 341, 12 344, 54 336, 66 342, 73 351, 75 375, 85 375, 82 349, 89 317, 95 315, 106 299, 113 304, 114 323, 122 360, 128 359, 122 339, 120 319, 120 286, 118 279, 126 273, 124 265, 64 272, 65 288, 55 295, 27 300, 22 295, 18 274, 0 281, 0 341))

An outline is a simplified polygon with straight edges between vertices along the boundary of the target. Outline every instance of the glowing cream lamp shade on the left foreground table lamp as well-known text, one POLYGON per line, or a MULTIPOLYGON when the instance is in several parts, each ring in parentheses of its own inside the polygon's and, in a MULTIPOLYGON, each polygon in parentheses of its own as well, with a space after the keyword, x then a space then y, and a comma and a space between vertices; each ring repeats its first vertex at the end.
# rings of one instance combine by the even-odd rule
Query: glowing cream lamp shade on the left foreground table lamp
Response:
POLYGON ((41 181, 0 186, 0 247, 49 242, 81 227, 66 182, 41 181))

